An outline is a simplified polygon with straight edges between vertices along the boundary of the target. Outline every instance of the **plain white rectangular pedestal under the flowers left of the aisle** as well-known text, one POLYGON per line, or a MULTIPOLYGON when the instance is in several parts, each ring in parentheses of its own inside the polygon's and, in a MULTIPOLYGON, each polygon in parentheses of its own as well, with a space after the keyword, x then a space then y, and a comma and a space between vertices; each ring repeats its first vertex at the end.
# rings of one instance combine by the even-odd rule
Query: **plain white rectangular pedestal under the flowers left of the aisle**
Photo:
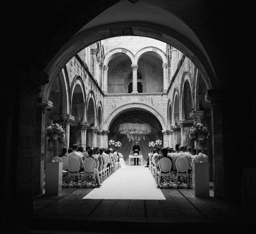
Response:
POLYGON ((59 195, 62 192, 62 163, 63 162, 46 162, 46 195, 59 195))

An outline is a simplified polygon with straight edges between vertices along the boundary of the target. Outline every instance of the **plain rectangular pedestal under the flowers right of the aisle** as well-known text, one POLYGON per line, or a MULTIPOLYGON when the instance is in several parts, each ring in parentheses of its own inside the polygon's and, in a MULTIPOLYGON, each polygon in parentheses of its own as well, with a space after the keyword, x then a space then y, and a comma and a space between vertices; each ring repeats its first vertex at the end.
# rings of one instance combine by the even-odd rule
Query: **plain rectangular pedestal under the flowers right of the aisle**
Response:
POLYGON ((200 198, 209 198, 209 163, 192 163, 193 195, 200 198))

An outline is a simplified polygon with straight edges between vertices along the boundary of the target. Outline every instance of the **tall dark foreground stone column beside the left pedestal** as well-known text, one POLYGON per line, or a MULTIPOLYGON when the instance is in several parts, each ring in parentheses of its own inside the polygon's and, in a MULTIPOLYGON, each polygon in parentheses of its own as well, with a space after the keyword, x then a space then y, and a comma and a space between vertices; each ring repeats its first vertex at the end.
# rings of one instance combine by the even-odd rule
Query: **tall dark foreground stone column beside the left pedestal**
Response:
POLYGON ((35 121, 36 138, 34 154, 34 195, 42 194, 44 187, 44 161, 45 161, 45 114, 46 109, 52 108, 52 102, 38 98, 35 121))

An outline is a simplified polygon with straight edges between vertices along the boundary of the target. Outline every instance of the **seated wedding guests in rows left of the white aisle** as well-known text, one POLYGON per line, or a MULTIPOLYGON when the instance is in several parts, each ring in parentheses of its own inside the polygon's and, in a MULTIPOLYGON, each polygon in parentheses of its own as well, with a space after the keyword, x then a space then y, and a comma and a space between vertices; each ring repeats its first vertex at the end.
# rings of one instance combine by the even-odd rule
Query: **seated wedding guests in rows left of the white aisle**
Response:
MULTIPOLYGON (((99 147, 91 148, 90 146, 87 146, 84 150, 84 147, 78 147, 77 144, 74 144, 72 146, 72 148, 69 148, 68 150, 65 147, 62 148, 62 153, 61 153, 61 155, 59 155, 59 157, 61 158, 63 156, 67 156, 67 163, 70 158, 72 158, 72 157, 77 158, 80 163, 79 172, 84 172, 83 160, 85 158, 88 158, 88 157, 93 158, 96 161, 96 164, 97 164, 99 158, 101 158, 103 161, 103 164, 105 164, 105 162, 107 162, 107 167, 109 167, 109 171, 110 171, 111 165, 114 165, 114 167, 115 167, 116 166, 115 164, 118 160, 118 155, 114 154, 115 151, 116 151, 116 149, 113 150, 112 148, 110 148, 110 149, 99 148, 99 147), (68 153, 68 154, 66 154, 66 153, 68 153)), ((98 181, 98 185, 101 186, 100 178, 99 178, 99 170, 101 170, 101 169, 97 168, 96 178, 98 181)))

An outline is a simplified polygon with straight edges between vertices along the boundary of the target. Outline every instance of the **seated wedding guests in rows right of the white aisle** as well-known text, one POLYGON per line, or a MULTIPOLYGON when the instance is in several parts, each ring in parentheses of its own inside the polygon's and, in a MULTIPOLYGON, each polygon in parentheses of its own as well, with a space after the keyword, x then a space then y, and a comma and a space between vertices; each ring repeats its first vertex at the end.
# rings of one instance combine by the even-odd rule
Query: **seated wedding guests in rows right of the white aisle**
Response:
POLYGON ((191 147, 186 147, 185 148, 185 146, 178 145, 178 144, 175 146, 175 148, 167 147, 167 148, 156 148, 156 149, 153 149, 151 151, 151 156, 150 156, 151 158, 150 158, 150 160, 152 159, 153 155, 155 155, 155 162, 156 162, 156 164, 159 161, 159 159, 161 159, 163 157, 169 158, 171 160, 171 162, 172 162, 171 171, 173 171, 173 172, 177 172, 175 162, 180 157, 183 157, 186 160, 188 160, 188 163, 189 163, 188 173, 191 172, 191 169, 192 169, 191 164, 192 164, 192 162, 201 162, 201 161, 209 162, 208 156, 205 155, 205 154, 202 154, 201 150, 198 150, 198 155, 197 155, 196 154, 196 149, 192 149, 192 153, 191 153, 191 147))

